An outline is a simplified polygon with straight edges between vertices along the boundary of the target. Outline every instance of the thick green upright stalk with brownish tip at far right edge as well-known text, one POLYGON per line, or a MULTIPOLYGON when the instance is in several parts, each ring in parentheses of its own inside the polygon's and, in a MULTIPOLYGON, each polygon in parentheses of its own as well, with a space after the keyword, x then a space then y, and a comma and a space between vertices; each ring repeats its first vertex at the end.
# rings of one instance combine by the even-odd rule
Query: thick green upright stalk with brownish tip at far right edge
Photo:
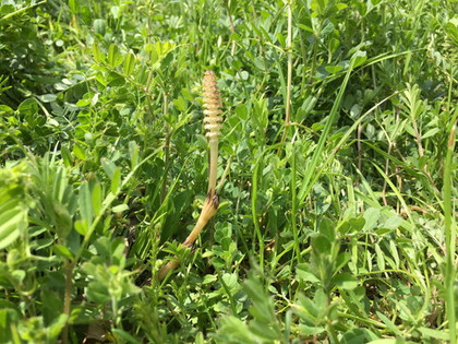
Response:
MULTIPOLYGON (((457 112, 458 114, 458 112, 457 112)), ((446 253, 446 268, 445 268, 445 308, 446 317, 448 320, 449 329, 449 341, 450 344, 457 343, 457 328, 456 328, 456 315, 455 315, 455 278, 456 278, 456 268, 455 268, 455 251, 456 251, 456 223, 454 221, 454 215, 451 213, 451 175, 453 175, 453 156, 455 150, 455 132, 456 132, 456 115, 455 123, 451 127, 450 135, 447 144, 447 155, 444 163, 444 186, 443 186, 443 197, 444 197, 444 230, 445 230, 445 246, 447 248, 446 253)))

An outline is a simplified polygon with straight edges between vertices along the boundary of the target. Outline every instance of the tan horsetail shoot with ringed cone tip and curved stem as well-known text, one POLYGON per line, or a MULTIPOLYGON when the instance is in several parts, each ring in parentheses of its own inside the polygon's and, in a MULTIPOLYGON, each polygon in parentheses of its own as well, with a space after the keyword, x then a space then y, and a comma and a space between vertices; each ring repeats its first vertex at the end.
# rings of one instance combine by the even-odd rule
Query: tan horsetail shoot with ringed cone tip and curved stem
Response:
MULTIPOLYGON (((218 173, 218 137, 221 134, 219 129, 221 128, 221 97, 218 92, 216 75, 213 71, 206 71, 203 81, 203 99, 204 99, 204 114, 205 114, 205 129, 206 137, 208 138, 208 192, 205 199, 204 206, 202 207, 201 215, 198 216, 197 223, 191 230, 183 245, 191 247, 197 239, 202 229, 206 226, 208 221, 215 216, 216 211, 219 206, 219 195, 216 193, 216 179, 218 173)), ((218 189, 221 186, 218 186, 218 189)), ((157 278, 162 281, 169 272, 174 270, 179 265, 178 260, 172 260, 160 268, 157 278)))

